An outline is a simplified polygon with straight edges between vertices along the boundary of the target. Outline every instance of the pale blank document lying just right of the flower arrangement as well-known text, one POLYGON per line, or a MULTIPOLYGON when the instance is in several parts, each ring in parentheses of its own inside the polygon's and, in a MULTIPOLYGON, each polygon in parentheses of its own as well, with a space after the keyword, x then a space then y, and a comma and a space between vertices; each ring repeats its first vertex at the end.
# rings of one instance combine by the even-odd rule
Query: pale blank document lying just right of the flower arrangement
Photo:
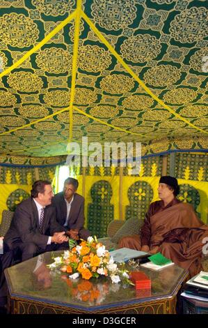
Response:
POLYGON ((150 254, 124 247, 110 252, 110 255, 115 262, 127 262, 128 260, 131 260, 131 258, 143 258, 150 254))

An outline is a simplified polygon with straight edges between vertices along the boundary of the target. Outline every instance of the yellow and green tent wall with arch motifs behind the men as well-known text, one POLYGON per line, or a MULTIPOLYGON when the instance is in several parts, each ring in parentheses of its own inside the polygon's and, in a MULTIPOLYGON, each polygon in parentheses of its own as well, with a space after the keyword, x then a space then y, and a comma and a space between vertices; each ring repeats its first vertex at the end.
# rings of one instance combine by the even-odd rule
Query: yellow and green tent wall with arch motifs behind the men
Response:
MULTIPOLYGON (((37 179, 53 181, 58 187, 58 170, 66 156, 54 158, 7 157, 0 165, 0 216, 3 209, 14 211, 29 197, 37 179), (17 164, 17 161, 21 164, 17 164), (25 165, 35 161, 35 165, 25 165), (50 163, 51 162, 51 163, 50 163), (15 163, 15 164, 12 164, 15 163), (58 163, 61 163, 58 165, 58 163)), ((142 158, 138 174, 131 167, 75 167, 70 176, 79 180, 78 193, 85 197, 86 227, 97 237, 106 237, 112 220, 144 218, 150 202, 159 200, 157 186, 161 175, 177 177, 179 200, 193 205, 198 216, 208 222, 208 165, 206 153, 174 152, 142 158)))

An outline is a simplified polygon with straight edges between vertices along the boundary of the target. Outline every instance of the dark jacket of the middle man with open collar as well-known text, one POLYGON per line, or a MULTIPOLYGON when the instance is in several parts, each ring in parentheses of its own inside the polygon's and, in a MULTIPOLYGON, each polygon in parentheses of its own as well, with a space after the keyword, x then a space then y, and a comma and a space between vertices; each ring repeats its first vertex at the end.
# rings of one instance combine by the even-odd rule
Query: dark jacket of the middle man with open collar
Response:
MULTIPOLYGON (((65 224, 67 216, 67 204, 65 203, 65 198, 63 192, 56 193, 52 198, 52 207, 56 209, 56 220, 61 225, 65 224)), ((81 230, 84 225, 84 197, 78 193, 74 194, 74 200, 70 209, 70 216, 67 223, 68 230, 78 229, 81 230)))

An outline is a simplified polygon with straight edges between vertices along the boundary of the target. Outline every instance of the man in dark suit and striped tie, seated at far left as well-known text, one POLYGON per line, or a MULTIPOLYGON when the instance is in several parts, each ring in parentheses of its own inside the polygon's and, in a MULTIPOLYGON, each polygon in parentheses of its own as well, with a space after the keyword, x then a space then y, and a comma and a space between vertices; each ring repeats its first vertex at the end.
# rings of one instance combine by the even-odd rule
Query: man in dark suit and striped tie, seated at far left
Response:
POLYGON ((47 251, 68 248, 65 230, 56 222, 55 210, 49 206, 52 197, 49 181, 35 181, 31 197, 17 206, 4 243, 10 251, 18 247, 22 261, 47 251))

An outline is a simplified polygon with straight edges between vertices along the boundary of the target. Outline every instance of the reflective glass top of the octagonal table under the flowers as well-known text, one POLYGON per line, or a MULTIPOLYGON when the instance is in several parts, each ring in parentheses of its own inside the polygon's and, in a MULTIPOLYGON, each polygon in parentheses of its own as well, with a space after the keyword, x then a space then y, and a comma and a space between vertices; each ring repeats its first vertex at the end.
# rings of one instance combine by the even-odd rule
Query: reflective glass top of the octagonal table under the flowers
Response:
POLYGON ((134 285, 111 283, 110 278, 71 280, 68 274, 47 266, 61 251, 48 252, 5 270, 11 297, 21 297, 76 308, 104 308, 173 297, 187 271, 173 265, 161 271, 136 267, 151 279, 151 290, 136 290, 134 285))

